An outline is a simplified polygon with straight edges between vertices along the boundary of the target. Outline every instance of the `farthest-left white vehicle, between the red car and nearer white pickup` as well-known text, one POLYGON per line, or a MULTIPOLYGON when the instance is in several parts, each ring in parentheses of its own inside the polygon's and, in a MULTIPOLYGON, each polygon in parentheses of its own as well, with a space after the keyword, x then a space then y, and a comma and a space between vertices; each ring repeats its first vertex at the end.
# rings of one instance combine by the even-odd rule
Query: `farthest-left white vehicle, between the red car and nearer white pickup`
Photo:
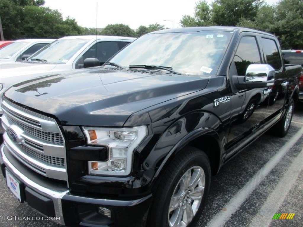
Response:
POLYGON ((13 41, 0 50, 0 62, 21 61, 22 56, 30 56, 52 41, 55 41, 55 39, 20 39, 13 41))

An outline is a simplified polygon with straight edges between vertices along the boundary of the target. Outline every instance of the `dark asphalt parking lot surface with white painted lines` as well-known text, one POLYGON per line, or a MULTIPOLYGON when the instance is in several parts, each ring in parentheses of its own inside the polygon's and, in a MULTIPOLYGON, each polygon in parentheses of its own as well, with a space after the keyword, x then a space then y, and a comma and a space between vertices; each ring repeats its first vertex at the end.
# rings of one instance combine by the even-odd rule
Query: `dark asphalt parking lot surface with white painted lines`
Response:
MULTIPOLYGON (((197 226, 302 226, 302 148, 303 104, 300 103, 286 137, 262 135, 212 178, 197 226), (273 219, 275 213, 295 215, 292 219, 273 219)), ((45 217, 26 203, 18 203, 6 188, 3 177, 0 177, 0 190, 0 226, 61 226, 42 220, 45 217)))

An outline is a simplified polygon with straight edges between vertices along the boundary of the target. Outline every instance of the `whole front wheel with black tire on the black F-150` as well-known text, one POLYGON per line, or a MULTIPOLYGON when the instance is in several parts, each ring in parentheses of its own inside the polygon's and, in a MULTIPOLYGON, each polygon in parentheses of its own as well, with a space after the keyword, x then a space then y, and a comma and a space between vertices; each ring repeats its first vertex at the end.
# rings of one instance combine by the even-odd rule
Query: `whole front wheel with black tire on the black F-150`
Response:
POLYGON ((185 223, 182 226, 193 226, 205 206, 210 187, 211 169, 207 155, 187 146, 163 174, 154 192, 147 226, 169 227, 174 220, 177 223, 174 226, 180 226, 180 221, 185 223))

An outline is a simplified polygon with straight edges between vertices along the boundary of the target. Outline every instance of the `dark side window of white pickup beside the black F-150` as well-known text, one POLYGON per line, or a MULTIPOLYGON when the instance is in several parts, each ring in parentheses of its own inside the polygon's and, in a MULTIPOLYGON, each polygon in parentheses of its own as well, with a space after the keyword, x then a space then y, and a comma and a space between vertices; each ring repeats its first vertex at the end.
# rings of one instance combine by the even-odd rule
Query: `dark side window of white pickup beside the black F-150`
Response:
POLYGON ((77 61, 76 69, 83 68, 84 60, 86 58, 97 58, 101 65, 118 51, 119 47, 117 42, 98 42, 97 44, 92 45, 92 47, 77 61))

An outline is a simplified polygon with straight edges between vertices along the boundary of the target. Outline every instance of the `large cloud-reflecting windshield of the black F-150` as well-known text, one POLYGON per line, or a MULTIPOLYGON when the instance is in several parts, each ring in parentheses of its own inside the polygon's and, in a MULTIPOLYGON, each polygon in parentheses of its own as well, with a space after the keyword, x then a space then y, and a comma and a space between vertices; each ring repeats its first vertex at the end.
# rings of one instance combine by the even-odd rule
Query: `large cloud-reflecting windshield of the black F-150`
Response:
POLYGON ((110 61, 157 65, 191 75, 215 74, 231 39, 230 32, 200 31, 148 34, 125 47, 110 61))

